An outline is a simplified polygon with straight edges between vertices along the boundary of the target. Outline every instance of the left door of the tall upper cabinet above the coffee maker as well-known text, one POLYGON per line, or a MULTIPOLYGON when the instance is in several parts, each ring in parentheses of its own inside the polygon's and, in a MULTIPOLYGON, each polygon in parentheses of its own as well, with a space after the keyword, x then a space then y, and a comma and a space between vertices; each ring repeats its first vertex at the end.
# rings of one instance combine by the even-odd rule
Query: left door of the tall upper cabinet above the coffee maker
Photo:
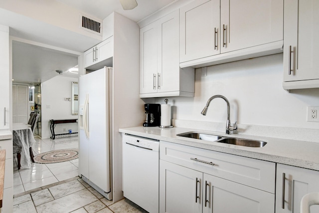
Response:
POLYGON ((158 75, 158 36, 157 22, 140 30, 140 93, 157 92, 158 75))

